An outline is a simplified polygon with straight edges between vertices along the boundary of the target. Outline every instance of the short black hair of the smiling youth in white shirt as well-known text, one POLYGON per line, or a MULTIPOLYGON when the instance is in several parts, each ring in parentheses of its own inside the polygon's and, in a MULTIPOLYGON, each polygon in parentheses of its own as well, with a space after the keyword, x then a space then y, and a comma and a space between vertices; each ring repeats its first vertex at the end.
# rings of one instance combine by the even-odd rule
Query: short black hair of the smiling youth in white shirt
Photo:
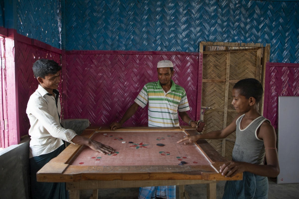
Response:
POLYGON ((56 74, 61 70, 61 66, 56 61, 50 59, 39 59, 34 62, 32 69, 35 78, 41 77, 44 79, 48 74, 56 74))

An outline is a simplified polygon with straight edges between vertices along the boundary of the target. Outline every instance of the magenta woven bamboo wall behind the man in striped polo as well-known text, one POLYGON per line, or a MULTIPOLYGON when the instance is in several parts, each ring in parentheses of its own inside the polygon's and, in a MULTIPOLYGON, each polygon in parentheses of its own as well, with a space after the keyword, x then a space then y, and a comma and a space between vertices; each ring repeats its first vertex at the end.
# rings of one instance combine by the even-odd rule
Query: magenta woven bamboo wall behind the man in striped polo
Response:
MULTIPOLYGON (((119 121, 145 83, 158 81, 156 66, 164 59, 174 63, 173 80, 185 88, 191 108, 188 114, 195 119, 198 54, 135 51, 67 52, 67 100, 64 101, 67 111, 64 111, 64 118, 87 118, 93 125, 119 121)), ((124 126, 147 123, 147 108, 139 108, 124 126)))

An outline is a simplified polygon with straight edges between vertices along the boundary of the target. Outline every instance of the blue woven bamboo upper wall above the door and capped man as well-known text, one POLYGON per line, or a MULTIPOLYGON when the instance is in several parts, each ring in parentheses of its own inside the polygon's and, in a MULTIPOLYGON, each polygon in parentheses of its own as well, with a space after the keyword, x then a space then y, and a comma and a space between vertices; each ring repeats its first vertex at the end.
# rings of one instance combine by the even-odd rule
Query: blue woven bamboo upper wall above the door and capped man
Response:
POLYGON ((299 63, 299 2, 62 0, 66 50, 197 52, 199 41, 271 44, 299 63))

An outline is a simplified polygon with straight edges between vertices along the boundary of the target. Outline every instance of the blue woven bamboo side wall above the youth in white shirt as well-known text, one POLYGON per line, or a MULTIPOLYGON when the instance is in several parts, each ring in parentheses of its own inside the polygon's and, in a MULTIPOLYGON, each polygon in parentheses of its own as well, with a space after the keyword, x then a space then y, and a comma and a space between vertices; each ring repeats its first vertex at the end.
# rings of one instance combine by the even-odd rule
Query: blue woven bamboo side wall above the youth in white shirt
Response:
POLYGON ((60 0, 14 1, 17 32, 61 49, 60 0))

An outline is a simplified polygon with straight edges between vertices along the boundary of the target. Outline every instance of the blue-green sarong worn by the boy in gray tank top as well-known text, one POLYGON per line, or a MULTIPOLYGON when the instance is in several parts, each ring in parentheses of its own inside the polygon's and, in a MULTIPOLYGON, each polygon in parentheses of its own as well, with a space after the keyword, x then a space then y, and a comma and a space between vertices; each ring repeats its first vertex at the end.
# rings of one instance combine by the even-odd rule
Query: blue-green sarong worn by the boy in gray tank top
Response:
POLYGON ((268 178, 243 172, 243 180, 226 181, 222 199, 268 199, 268 178))

